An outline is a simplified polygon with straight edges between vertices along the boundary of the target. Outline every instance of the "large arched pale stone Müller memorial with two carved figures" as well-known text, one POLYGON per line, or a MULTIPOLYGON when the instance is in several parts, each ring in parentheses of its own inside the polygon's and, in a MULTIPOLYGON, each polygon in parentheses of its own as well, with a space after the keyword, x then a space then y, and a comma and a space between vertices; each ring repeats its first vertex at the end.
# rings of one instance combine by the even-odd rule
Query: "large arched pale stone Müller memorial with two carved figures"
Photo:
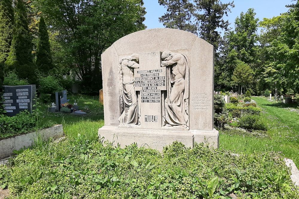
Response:
POLYGON ((113 144, 219 146, 213 126, 214 48, 192 33, 148 29, 102 54, 105 126, 113 144))

